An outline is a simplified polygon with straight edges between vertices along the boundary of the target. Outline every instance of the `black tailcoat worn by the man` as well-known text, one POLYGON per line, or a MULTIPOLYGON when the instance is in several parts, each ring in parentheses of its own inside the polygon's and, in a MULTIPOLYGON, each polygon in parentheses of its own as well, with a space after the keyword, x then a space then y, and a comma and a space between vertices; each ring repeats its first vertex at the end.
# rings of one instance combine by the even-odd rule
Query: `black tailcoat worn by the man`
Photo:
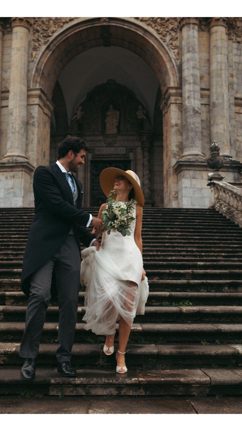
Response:
MULTIPOLYGON (((30 226, 23 260, 21 287, 29 296, 30 277, 41 268, 61 247, 70 232, 71 226, 80 241, 89 246, 94 238, 85 226, 90 214, 82 206, 82 183, 75 177, 78 188, 77 207, 73 194, 63 172, 56 163, 51 166, 38 166, 34 172, 35 214, 30 226)), ((52 295, 55 292, 55 273, 52 276, 52 295)))

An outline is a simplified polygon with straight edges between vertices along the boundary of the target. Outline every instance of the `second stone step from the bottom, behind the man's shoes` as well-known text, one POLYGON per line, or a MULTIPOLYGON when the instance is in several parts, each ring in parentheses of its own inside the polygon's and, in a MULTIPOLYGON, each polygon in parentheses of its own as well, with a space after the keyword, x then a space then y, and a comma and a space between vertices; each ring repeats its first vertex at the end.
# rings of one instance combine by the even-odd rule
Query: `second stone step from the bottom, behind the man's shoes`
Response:
MULTIPOLYGON (((58 344, 40 344, 37 356, 37 369, 46 365, 56 365, 55 352, 58 344)), ((75 343, 72 349, 71 362, 75 366, 89 368, 90 365, 100 369, 115 369, 115 354, 106 356, 103 343, 75 343)), ((11 367, 21 367, 23 359, 19 357, 20 343, 0 343, 0 363, 11 367)), ((114 351, 118 349, 114 343, 114 351)), ((161 369, 167 365, 171 368, 184 365, 242 365, 242 345, 227 344, 128 344, 126 363, 129 369, 137 365, 143 369, 161 369)))

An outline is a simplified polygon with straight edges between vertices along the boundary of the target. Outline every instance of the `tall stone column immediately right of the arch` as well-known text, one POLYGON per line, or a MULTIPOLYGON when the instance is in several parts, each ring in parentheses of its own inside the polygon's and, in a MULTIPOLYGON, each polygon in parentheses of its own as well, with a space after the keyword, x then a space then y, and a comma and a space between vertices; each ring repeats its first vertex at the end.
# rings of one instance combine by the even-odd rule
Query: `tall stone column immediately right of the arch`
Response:
POLYGON ((205 159, 202 154, 198 18, 181 19, 182 141, 181 159, 205 159))

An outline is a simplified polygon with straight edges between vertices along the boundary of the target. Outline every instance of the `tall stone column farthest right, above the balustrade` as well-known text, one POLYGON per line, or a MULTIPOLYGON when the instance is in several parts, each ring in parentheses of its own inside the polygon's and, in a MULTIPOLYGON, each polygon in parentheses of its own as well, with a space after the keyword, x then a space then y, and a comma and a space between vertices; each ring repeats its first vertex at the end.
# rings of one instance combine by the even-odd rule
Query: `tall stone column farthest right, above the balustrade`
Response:
POLYGON ((221 156, 231 158, 226 21, 210 21, 210 123, 211 141, 218 142, 221 156))

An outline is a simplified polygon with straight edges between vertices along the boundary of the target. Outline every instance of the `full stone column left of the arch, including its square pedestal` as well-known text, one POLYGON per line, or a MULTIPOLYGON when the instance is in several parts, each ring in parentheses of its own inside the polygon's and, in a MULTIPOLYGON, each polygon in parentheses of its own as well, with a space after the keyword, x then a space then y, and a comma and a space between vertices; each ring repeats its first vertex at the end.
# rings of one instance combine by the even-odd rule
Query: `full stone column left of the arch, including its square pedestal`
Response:
POLYGON ((0 207, 4 208, 30 206, 31 174, 34 170, 26 155, 28 44, 31 18, 12 18, 11 22, 7 153, 0 161, 0 207))

